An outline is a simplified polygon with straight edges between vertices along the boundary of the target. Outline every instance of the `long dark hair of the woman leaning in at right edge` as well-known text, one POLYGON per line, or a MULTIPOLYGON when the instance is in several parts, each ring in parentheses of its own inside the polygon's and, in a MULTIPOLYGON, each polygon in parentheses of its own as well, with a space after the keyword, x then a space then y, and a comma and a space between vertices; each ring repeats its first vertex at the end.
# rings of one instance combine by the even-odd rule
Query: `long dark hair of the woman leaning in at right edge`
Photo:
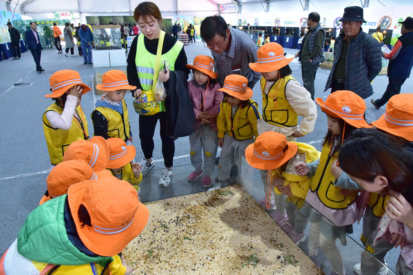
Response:
MULTIPOLYGON (((405 192, 413 182, 411 162, 394 139, 371 128, 354 130, 339 154, 340 167, 347 174, 366 181, 384 176, 388 188, 399 193, 405 192)), ((413 201, 413 194, 407 196, 406 199, 413 201)))

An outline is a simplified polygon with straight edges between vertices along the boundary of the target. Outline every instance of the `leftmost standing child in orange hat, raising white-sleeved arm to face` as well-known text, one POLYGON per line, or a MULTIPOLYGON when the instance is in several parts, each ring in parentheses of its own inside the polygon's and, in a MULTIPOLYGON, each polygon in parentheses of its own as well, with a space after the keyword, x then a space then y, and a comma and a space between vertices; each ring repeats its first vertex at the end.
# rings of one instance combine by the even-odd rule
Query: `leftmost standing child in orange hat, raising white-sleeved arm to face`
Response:
POLYGON ((90 89, 82 83, 81 76, 74 70, 60 70, 50 77, 54 99, 43 114, 43 131, 52 167, 63 161, 67 146, 78 139, 89 139, 87 119, 81 108, 82 94, 90 89))

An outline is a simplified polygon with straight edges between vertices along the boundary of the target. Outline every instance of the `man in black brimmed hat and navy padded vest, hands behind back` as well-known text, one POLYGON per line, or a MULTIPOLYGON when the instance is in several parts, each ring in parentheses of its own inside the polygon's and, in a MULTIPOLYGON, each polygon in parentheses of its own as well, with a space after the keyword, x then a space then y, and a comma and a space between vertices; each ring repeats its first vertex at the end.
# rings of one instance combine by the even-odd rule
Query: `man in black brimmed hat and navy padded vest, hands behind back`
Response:
POLYGON ((350 90, 366 99, 373 94, 370 83, 381 71, 380 43, 361 29, 366 23, 363 8, 345 8, 339 21, 343 33, 335 40, 334 63, 324 91, 350 90))

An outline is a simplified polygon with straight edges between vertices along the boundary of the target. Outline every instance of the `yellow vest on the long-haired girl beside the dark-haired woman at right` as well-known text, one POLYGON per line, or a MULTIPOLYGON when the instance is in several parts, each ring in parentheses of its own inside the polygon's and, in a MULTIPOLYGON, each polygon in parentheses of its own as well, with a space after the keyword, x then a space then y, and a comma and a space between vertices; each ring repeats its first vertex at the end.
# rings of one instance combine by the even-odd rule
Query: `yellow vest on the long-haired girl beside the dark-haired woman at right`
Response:
POLYGON ((357 198, 357 194, 354 192, 344 196, 340 193, 343 189, 333 185, 336 179, 331 173, 331 165, 338 158, 339 152, 330 156, 330 150, 331 145, 328 143, 323 145, 320 162, 311 181, 310 190, 316 192, 321 203, 327 207, 345 209, 357 198))

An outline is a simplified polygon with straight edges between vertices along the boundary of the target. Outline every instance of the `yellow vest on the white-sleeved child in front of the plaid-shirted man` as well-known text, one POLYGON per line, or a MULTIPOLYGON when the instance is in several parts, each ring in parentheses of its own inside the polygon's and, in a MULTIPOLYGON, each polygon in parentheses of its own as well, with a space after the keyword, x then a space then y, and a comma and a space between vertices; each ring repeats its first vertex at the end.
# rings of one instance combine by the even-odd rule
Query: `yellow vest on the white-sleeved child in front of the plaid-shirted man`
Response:
POLYGON ((286 85, 290 80, 296 81, 291 75, 278 79, 265 94, 266 79, 261 78, 262 118, 267 123, 280 127, 297 126, 297 113, 286 99, 286 85))

